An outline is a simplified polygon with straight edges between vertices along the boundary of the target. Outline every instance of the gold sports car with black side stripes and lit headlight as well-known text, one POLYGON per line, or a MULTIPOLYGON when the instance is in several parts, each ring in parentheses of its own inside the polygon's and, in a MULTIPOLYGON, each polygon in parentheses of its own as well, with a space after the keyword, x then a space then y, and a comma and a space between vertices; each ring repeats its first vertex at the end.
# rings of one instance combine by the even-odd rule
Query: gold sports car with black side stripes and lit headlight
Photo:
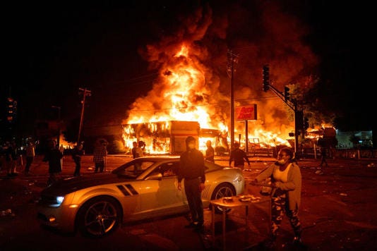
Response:
MULTIPOLYGON (((125 222, 188 213, 184 189, 177 189, 178 166, 179 157, 140 157, 111 173, 59 180, 42 190, 38 219, 60 231, 98 238, 125 222)), ((205 161, 205 178, 204 207, 245 189, 241 169, 205 161)))

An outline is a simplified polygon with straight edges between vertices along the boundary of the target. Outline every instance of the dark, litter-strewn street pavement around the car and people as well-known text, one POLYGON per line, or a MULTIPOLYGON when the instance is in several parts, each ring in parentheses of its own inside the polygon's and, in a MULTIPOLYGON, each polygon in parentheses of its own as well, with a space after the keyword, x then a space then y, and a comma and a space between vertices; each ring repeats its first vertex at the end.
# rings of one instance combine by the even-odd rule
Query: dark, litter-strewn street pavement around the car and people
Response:
MULTIPOLYGON (((220 250, 222 249, 221 215, 215 216, 215 246, 211 238, 211 214, 205 209, 205 234, 198 235, 183 226, 186 216, 128 224, 100 240, 78 235, 55 233, 41 228, 35 217, 35 203, 47 181, 47 164, 35 159, 31 175, 8 177, 0 170, 0 250, 220 250), (203 241, 204 240, 204 241, 203 241)), ((107 171, 130 157, 110 156, 107 171)), ((253 179, 273 158, 251 157, 251 171, 244 171, 247 180, 253 179)), ((83 158, 83 175, 90 175, 92 157, 83 158)), ((227 164, 227 157, 216 162, 227 164)), ((349 159, 328 160, 329 166, 318 169, 320 160, 299 161, 303 175, 300 218, 304 228, 303 250, 374 250, 377 245, 377 161, 349 159), (373 164, 373 165, 372 165, 373 164), (321 171, 321 172, 318 172, 321 171)), ((74 164, 64 159, 62 177, 73 175, 74 164)), ((248 185, 246 194, 258 195, 258 187, 248 185)), ((251 209, 249 228, 244 227, 244 211, 232 210, 226 219, 227 250, 265 250, 261 243, 268 234, 267 207, 251 209)), ((283 219, 275 250, 292 250, 293 233, 283 219)))

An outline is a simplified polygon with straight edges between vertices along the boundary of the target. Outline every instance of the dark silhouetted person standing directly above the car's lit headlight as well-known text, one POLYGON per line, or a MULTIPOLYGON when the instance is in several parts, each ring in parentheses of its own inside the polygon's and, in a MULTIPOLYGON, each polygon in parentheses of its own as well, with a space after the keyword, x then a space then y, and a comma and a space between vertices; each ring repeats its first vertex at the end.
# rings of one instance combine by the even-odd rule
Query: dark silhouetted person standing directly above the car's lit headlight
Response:
POLYGON ((59 173, 61 173, 61 158, 63 158, 63 154, 56 147, 56 141, 52 140, 49 143, 49 149, 47 149, 47 152, 44 154, 44 158, 42 159, 44 162, 49 162, 49 180, 47 180, 48 186, 56 182, 59 173))

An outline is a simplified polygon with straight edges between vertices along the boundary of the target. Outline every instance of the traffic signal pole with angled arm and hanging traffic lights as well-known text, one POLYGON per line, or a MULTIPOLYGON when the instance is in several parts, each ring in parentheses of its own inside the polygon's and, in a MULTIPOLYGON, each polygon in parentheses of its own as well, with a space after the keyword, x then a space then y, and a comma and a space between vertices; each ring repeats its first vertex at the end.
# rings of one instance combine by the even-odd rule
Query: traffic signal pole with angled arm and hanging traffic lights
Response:
POLYGON ((263 91, 267 92, 268 90, 271 90, 277 97, 282 99, 287 106, 289 106, 292 111, 294 111, 294 153, 295 156, 298 156, 299 151, 299 131, 303 128, 300 128, 304 121, 303 116, 299 116, 302 114, 302 111, 299 111, 297 109, 297 101, 296 99, 291 99, 289 97, 289 88, 285 87, 284 94, 277 90, 273 85, 270 85, 270 68, 268 65, 263 66, 263 91), (301 120, 301 121, 300 121, 301 120))

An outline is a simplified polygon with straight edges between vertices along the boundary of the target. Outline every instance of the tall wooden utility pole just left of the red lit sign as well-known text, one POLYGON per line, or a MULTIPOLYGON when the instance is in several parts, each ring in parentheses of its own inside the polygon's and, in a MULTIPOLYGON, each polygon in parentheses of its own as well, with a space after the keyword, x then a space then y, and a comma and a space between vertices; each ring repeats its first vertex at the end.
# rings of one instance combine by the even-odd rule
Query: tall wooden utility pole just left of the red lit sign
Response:
POLYGON ((238 55, 228 50, 228 75, 230 77, 230 152, 234 149, 234 63, 237 63, 238 55))

